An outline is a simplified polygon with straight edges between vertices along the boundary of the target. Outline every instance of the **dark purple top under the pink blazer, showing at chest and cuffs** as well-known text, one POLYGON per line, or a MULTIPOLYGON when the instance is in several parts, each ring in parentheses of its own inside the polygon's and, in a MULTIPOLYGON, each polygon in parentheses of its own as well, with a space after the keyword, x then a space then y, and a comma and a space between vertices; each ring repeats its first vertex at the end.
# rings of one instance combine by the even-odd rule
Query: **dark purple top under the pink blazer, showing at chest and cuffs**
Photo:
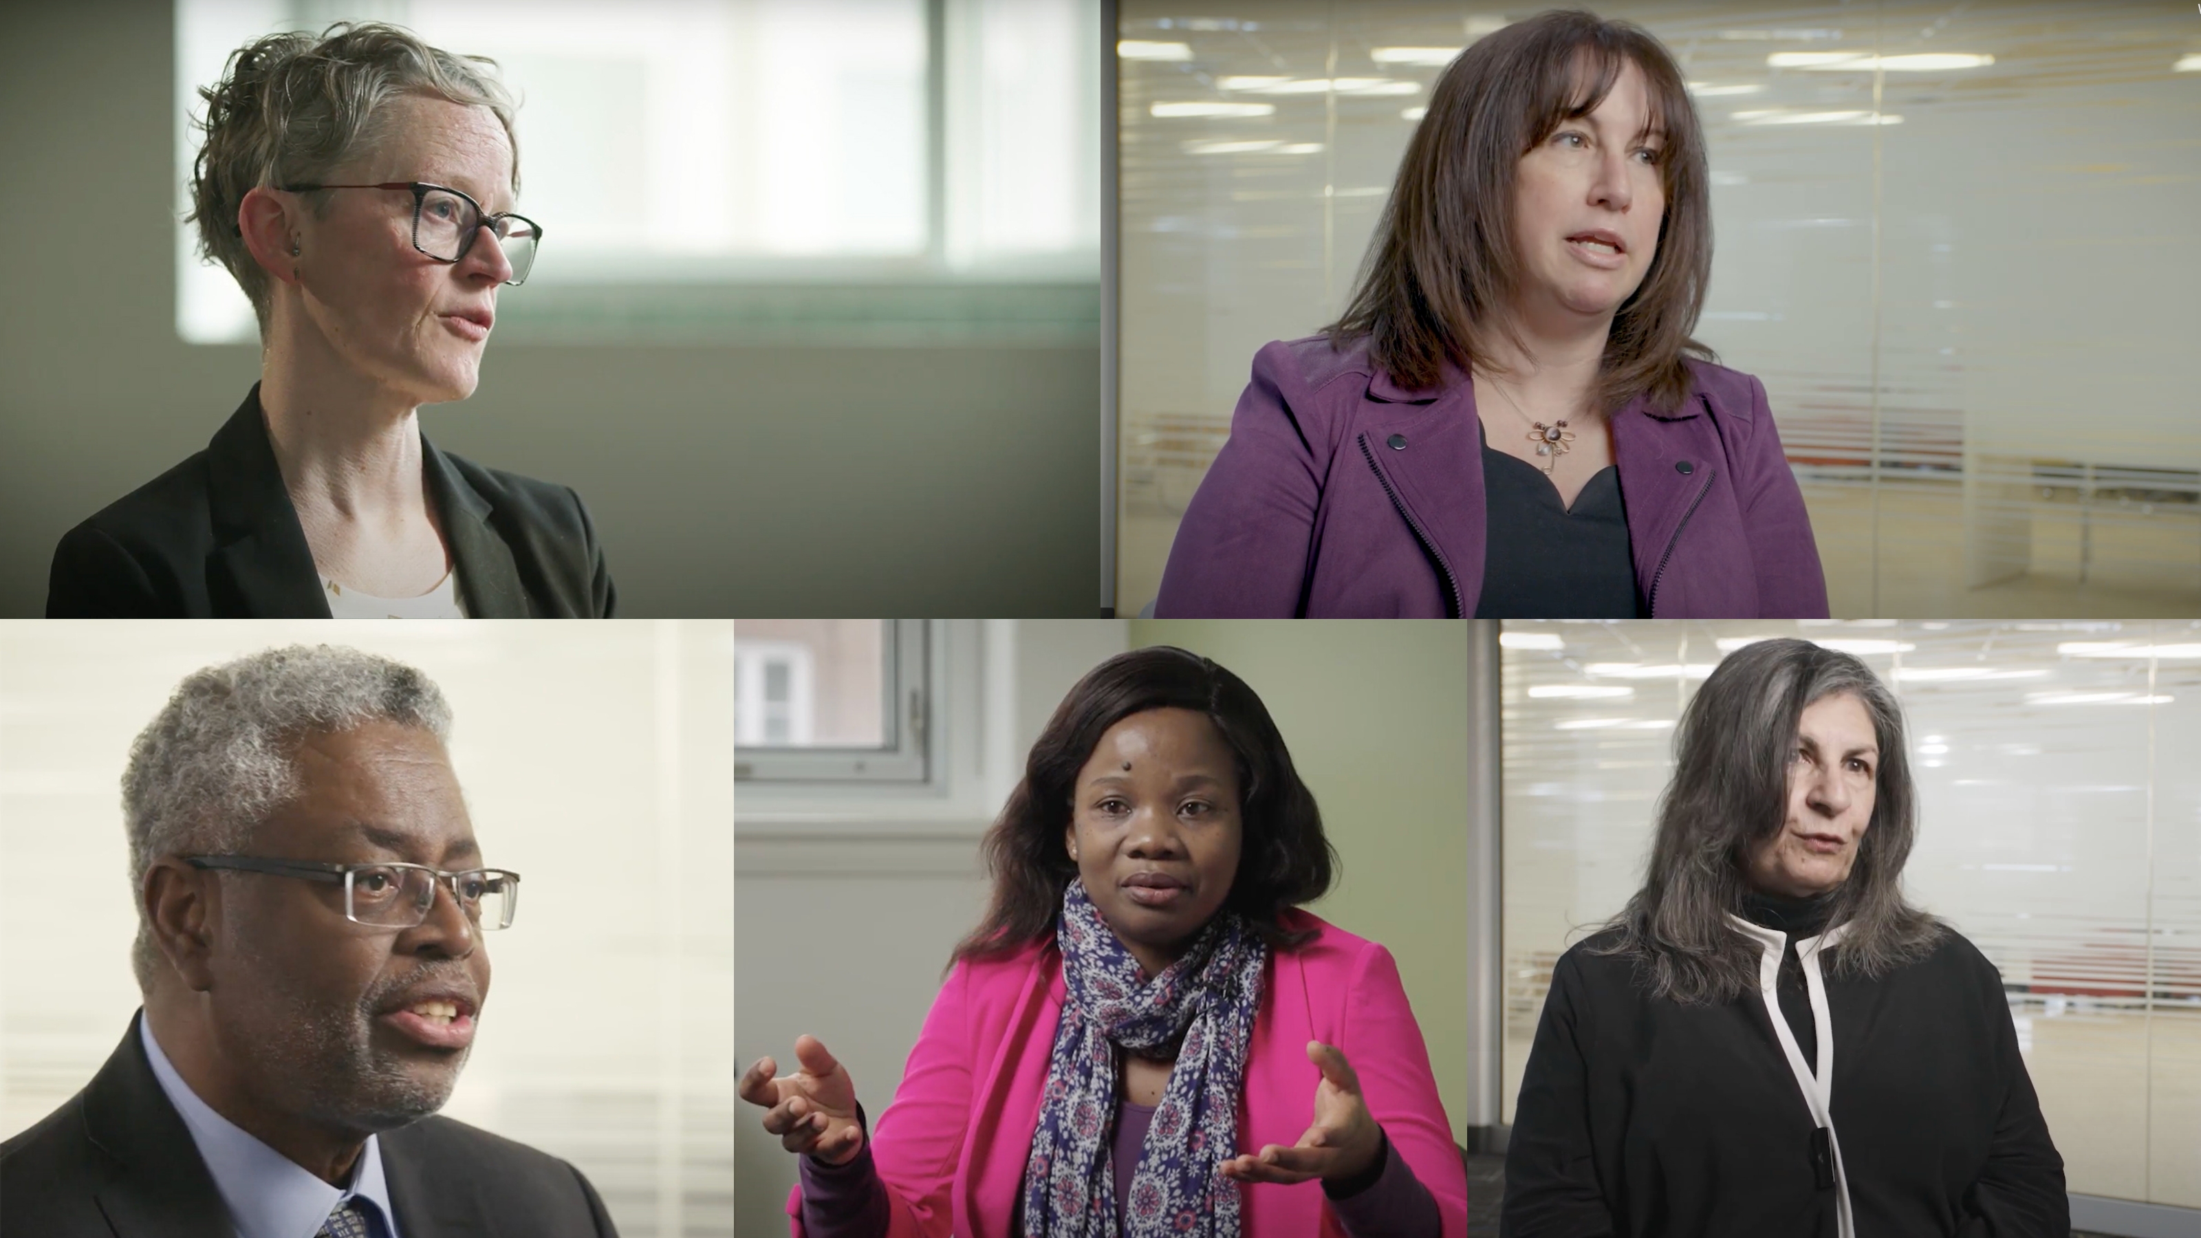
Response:
MULTIPOLYGON (((1147 1145, 1153 1110, 1156 1106, 1116 1101, 1116 1139, 1109 1156, 1116 1198, 1131 1194, 1131 1176, 1138 1172, 1138 1152, 1147 1145)), ((803 1156, 801 1176, 803 1234, 810 1238, 876 1238, 887 1231, 887 1185, 878 1181, 869 1139, 847 1165, 803 1156)), ((1354 1238, 1437 1238, 1444 1229, 1437 1201, 1389 1139, 1382 1141, 1382 1168, 1376 1176, 1347 1183, 1347 1190, 1351 1194, 1336 1196, 1329 1194, 1329 1183, 1323 1183, 1329 1209, 1354 1238)))

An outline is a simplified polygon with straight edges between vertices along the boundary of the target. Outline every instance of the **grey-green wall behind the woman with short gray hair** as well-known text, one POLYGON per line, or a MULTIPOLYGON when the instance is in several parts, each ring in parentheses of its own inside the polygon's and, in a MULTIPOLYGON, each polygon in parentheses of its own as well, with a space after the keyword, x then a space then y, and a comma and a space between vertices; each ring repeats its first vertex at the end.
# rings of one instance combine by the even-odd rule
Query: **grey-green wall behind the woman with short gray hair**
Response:
MULTIPOLYGON (((258 377, 176 339, 172 24, 0 4, 0 615, 42 615, 62 533, 258 377)), ((574 487, 629 617, 1092 615, 1098 357, 500 339, 423 425, 574 487)))

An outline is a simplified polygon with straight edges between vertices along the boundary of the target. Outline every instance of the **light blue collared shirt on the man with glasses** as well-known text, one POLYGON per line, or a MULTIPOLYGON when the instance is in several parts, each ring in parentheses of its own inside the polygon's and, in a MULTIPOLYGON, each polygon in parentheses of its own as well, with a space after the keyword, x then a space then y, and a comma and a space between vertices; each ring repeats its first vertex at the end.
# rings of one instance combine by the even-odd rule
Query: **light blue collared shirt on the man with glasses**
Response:
POLYGON ((161 1053, 145 1016, 139 1016, 139 1040, 145 1042, 152 1077, 161 1079, 167 1104, 176 1106, 183 1126, 191 1130, 191 1143, 198 1143, 198 1156, 213 1174, 213 1190, 222 1192, 222 1203, 229 1205, 238 1238, 315 1238, 328 1214, 352 1196, 372 1201, 381 1209, 381 1231, 401 1238, 396 1214, 390 1209, 390 1183, 383 1181, 383 1150, 372 1134, 352 1165, 350 1190, 337 1190, 198 1099, 167 1053, 161 1053))

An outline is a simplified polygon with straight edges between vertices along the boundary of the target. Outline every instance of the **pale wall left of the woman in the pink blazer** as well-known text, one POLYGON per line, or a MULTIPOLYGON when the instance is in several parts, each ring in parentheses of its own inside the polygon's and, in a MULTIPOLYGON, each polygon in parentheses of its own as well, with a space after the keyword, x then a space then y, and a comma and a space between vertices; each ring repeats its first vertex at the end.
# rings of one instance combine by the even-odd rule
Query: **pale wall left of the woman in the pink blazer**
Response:
MULTIPOLYGON (((935 687, 933 703, 935 736, 951 749, 949 786, 834 802, 830 791, 775 795, 751 782, 737 806, 740 1068, 766 1053, 788 1064, 795 1038, 812 1033, 847 1066, 869 1115, 894 1099, 949 952, 986 905, 979 833, 1070 685, 1127 648, 1123 619, 942 628, 953 628, 933 632, 953 683, 935 687)), ((737 1106, 735 1231, 744 1236, 784 1231, 779 1209, 795 1187, 795 1159, 759 1117, 737 1106)))

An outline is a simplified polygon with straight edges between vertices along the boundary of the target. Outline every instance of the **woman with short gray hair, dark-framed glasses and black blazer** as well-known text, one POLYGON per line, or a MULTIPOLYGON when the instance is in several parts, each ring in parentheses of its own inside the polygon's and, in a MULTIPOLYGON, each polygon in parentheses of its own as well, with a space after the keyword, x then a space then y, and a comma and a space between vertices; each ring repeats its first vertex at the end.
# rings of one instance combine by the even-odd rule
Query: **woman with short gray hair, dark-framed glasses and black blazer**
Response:
POLYGON ((607 617, 581 498, 438 452, 541 227, 484 57, 379 22, 240 48, 191 176, 200 251, 260 319, 205 452, 62 537, 48 617, 607 617))

